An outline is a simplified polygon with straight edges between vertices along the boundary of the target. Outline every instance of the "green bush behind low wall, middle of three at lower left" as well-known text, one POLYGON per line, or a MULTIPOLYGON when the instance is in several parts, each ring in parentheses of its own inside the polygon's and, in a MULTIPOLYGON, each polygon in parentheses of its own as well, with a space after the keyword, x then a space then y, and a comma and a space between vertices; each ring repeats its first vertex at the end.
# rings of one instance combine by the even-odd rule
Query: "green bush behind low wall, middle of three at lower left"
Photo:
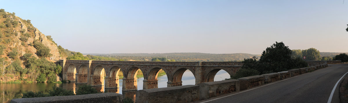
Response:
POLYGON ((62 87, 53 86, 52 89, 48 91, 49 96, 68 96, 75 95, 73 91, 66 90, 62 87))

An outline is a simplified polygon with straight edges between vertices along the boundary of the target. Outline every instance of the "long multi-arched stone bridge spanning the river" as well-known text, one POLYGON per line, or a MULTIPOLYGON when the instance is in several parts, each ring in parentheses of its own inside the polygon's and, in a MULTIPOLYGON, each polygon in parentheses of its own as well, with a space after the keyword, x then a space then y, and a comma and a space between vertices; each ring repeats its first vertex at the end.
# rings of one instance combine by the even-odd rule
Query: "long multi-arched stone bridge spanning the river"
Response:
POLYGON ((59 60, 63 67, 64 80, 76 84, 119 88, 119 71, 124 78, 122 91, 137 90, 137 71, 144 75, 143 89, 158 88, 157 75, 159 70, 167 74, 167 87, 181 86, 182 75, 190 70, 199 83, 214 81, 219 70, 230 75, 235 74, 242 62, 156 62, 156 61, 97 61, 97 60, 59 60), (105 83, 104 83, 105 81, 105 83))

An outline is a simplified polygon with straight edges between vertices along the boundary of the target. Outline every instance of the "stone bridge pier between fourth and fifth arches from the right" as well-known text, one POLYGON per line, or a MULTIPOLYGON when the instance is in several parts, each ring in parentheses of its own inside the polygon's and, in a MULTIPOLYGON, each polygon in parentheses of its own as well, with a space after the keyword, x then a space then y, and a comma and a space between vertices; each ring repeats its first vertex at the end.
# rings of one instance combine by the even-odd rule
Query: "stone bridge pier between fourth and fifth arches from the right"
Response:
POLYGON ((137 91, 138 84, 136 78, 122 78, 122 91, 137 91))

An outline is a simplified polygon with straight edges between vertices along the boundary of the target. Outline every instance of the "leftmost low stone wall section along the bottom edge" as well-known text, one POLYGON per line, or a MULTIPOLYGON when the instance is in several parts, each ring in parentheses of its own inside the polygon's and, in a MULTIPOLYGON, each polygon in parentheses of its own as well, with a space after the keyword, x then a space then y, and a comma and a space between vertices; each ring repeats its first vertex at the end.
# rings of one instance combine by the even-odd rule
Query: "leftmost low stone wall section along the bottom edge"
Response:
POLYGON ((122 103, 123 95, 118 93, 98 93, 71 96, 50 96, 12 99, 11 103, 122 103))

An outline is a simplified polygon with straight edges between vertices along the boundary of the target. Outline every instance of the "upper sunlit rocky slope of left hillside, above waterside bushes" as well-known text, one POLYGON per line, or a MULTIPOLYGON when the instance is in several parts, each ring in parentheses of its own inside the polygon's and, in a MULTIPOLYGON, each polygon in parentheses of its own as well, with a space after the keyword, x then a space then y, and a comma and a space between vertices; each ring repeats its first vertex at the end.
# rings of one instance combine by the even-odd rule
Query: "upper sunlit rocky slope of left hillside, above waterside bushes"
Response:
POLYGON ((18 54, 14 58, 23 56, 25 53, 32 53, 35 57, 44 57, 50 61, 66 58, 61 57, 57 44, 50 38, 45 36, 34 27, 30 20, 25 20, 15 16, 15 13, 0 11, 0 44, 5 46, 1 53, 2 58, 11 58, 10 52, 17 50, 18 54), (41 42, 49 49, 49 54, 46 56, 38 55, 38 49, 34 47, 34 41, 41 42))

